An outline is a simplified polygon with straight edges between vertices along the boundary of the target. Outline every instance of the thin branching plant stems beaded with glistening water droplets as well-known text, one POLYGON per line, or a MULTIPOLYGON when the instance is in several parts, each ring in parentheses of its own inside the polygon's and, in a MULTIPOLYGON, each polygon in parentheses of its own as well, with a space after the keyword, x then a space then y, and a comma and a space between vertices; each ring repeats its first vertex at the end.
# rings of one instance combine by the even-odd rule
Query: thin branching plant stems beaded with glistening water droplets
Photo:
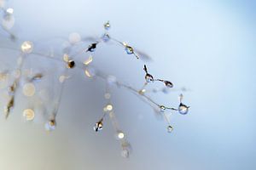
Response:
MULTIPOLYGON (((6 12, 8 14, 13 14, 13 10, 11 10, 11 9, 6 9, 6 12)), ((83 49, 82 52, 90 53, 90 56, 88 57, 88 59, 84 60, 83 66, 82 66, 82 69, 84 71, 85 76, 86 77, 94 77, 94 76, 101 77, 106 82, 108 82, 108 84, 115 84, 119 87, 126 88, 127 90, 130 90, 131 92, 137 92, 138 94, 140 94, 141 97, 148 100, 148 104, 156 105, 160 109, 160 112, 162 112, 165 117, 166 117, 166 113, 165 113, 166 110, 178 111, 180 114, 186 115, 189 111, 189 106, 183 104, 183 102, 182 102, 183 95, 182 94, 179 96, 180 104, 178 105, 177 109, 172 108, 172 107, 167 107, 165 105, 159 105, 156 102, 154 102, 153 99, 150 99, 145 94, 146 93, 145 87, 148 85, 148 83, 151 83, 151 82, 163 82, 166 88, 173 88, 172 82, 166 81, 166 80, 163 80, 163 79, 159 79, 159 78, 154 78, 153 75, 149 74, 148 73, 148 68, 147 68, 146 65, 143 66, 143 70, 145 71, 145 77, 144 77, 145 78, 145 83, 143 85, 143 88, 140 89, 140 90, 137 90, 136 88, 132 88, 132 87, 130 87, 126 84, 123 84, 121 82, 118 82, 116 80, 116 78, 113 77, 113 76, 103 77, 102 74, 96 74, 96 71, 98 71, 98 70, 96 70, 94 67, 91 67, 90 63, 93 61, 92 53, 94 53, 96 51, 96 48, 98 47, 98 44, 102 43, 102 42, 109 42, 110 40, 113 40, 113 42, 118 42, 118 44, 121 45, 125 49, 126 54, 129 54, 129 55, 132 54, 137 59, 142 59, 142 57, 138 55, 139 52, 137 52, 137 50, 135 50, 130 45, 128 45, 128 43, 120 42, 119 40, 116 40, 113 37, 110 37, 109 33, 108 33, 110 27, 111 26, 110 26, 109 21, 106 22, 104 24, 105 33, 100 38, 101 40, 92 42, 92 43, 89 44, 89 46, 87 48, 83 49)), ((77 37, 78 37, 77 34, 73 34, 73 36, 70 37, 70 41, 73 44, 75 44, 75 42, 77 42, 77 39, 80 39, 80 37, 79 38, 77 38, 77 37), (73 37, 76 37, 76 38, 74 39, 73 37)), ((22 42, 22 44, 20 45, 20 51, 21 51, 20 61, 18 62, 18 66, 17 66, 17 69, 16 69, 17 75, 20 74, 21 67, 22 67, 22 64, 24 62, 24 59, 26 58, 26 55, 33 54, 33 42, 31 42, 31 41, 22 42)), ((41 54, 41 55, 44 56, 44 54, 41 54)), ((73 68, 81 69, 81 67, 79 67, 79 65, 77 65, 77 63, 75 61, 75 57, 76 57, 76 54, 73 54, 73 55, 70 55, 70 54, 67 54, 67 53, 63 54, 63 59, 61 60, 61 62, 62 63, 64 62, 64 64, 66 65, 67 71, 70 70, 70 69, 73 69, 73 68)), ((2 75, 2 73, 1 73, 1 75, 2 75)), ((22 87, 23 94, 27 97, 33 96, 35 94, 35 91, 36 91, 36 88, 34 86, 34 82, 39 82, 39 80, 41 80, 43 77, 44 77, 44 73, 37 73, 37 74, 32 75, 31 77, 26 77, 27 81, 22 87)), ((61 82, 61 89, 64 86, 63 82, 65 82, 65 80, 67 78, 68 77, 66 75, 62 75, 61 77, 59 77, 59 82, 61 82)), ((15 106, 15 93, 16 93, 16 89, 19 87, 19 85, 20 85, 20 76, 17 76, 15 78, 15 81, 11 84, 11 86, 8 87, 9 102, 4 108, 4 113, 5 113, 6 118, 9 116, 9 112, 11 111, 11 109, 14 108, 14 106, 15 106)), ((95 123, 93 129, 96 132, 100 132, 103 128, 104 117, 108 115, 110 117, 110 120, 113 123, 113 127, 115 129, 115 136, 121 142, 121 148, 122 148, 121 155, 127 158, 131 154, 131 144, 129 144, 127 142, 126 134, 122 130, 120 130, 118 122, 116 120, 116 117, 114 116, 113 104, 110 101, 111 94, 109 93, 109 91, 107 91, 104 96, 105 96, 105 99, 108 100, 108 104, 103 107, 103 116, 101 117, 101 119, 99 121, 97 121, 95 123)), ((60 104, 60 100, 61 100, 61 94, 58 97, 59 97, 59 102, 57 102, 56 105, 55 105, 55 111, 52 114, 53 116, 49 117, 49 120, 44 125, 44 127, 47 131, 53 131, 53 130, 55 130, 55 127, 56 127, 55 117, 56 117, 56 114, 58 112, 58 108, 59 108, 59 104, 60 104)), ((26 121, 32 121, 34 119, 34 117, 36 116, 36 111, 34 111, 33 107, 32 108, 26 108, 23 111, 23 116, 25 117, 26 121)), ((167 122, 168 122, 167 131, 169 133, 171 133, 173 127, 170 125, 170 122, 168 120, 167 120, 167 122)))

